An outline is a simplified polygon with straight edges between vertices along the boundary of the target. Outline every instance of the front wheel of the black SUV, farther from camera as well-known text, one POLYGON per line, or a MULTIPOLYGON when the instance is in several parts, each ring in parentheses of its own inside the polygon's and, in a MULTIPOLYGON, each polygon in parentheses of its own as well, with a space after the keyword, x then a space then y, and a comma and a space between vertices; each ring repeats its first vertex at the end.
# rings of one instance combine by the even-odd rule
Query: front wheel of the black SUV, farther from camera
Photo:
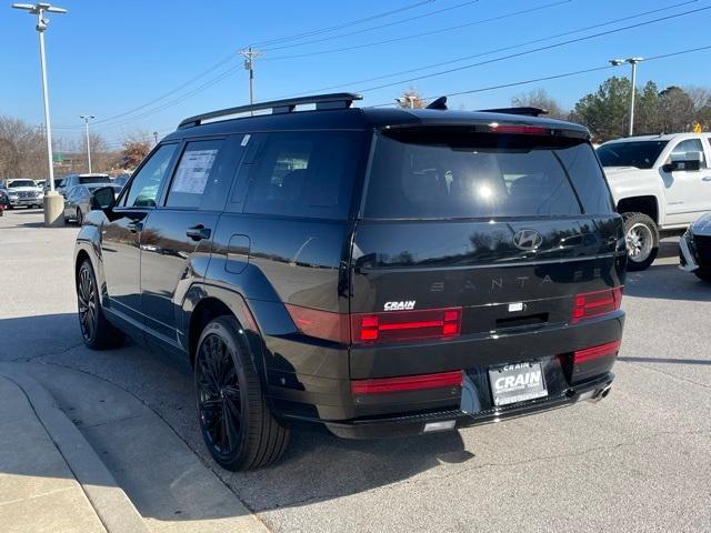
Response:
POLYGON ((86 259, 77 271, 77 300, 79 303, 79 328, 84 344, 92 350, 117 348, 126 335, 111 324, 101 309, 97 276, 91 261, 86 259))

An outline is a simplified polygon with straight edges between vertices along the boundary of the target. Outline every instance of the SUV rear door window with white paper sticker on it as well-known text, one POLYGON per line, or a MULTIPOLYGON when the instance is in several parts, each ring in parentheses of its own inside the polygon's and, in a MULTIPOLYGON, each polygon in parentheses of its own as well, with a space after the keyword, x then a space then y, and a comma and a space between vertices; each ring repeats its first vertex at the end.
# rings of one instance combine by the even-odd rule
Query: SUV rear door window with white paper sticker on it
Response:
POLYGON ((222 142, 196 141, 186 145, 170 184, 167 207, 197 209, 200 205, 211 174, 218 173, 216 162, 222 142))

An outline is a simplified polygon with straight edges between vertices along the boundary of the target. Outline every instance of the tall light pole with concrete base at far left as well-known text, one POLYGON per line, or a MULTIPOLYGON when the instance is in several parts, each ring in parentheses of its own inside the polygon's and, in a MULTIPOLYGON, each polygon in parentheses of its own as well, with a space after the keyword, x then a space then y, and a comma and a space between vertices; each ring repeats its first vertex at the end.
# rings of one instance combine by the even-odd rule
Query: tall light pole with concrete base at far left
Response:
POLYGON ((44 225, 64 224, 64 200, 54 191, 54 168, 52 161, 52 128, 49 120, 49 90, 47 87, 47 59, 44 54, 44 31, 47 20, 44 13, 64 14, 66 9, 57 8, 49 3, 13 3, 14 9, 22 9, 37 16, 37 32, 40 36, 40 68, 42 70, 42 99, 44 103, 44 137, 47 139, 47 162, 49 165, 49 193, 44 194, 44 225))

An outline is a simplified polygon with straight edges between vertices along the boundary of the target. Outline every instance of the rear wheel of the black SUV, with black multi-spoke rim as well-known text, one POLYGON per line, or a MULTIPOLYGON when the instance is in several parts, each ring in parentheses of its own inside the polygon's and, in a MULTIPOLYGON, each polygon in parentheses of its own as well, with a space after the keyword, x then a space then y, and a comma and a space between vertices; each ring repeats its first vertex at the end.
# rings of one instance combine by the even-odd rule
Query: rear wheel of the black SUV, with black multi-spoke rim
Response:
POLYGON ((233 316, 210 322, 194 364, 198 423, 206 446, 224 469, 244 471, 278 461, 289 429, 269 410, 252 355, 233 316))

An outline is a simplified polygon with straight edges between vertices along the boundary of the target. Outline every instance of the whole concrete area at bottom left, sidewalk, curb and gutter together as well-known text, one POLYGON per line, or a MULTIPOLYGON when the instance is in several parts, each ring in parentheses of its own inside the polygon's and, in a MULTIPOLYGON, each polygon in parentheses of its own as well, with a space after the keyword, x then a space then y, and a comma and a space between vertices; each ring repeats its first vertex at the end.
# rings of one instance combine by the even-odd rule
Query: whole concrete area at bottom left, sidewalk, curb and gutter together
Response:
POLYGON ((21 362, 0 363, 0 384, 2 533, 268 531, 122 389, 21 362))

